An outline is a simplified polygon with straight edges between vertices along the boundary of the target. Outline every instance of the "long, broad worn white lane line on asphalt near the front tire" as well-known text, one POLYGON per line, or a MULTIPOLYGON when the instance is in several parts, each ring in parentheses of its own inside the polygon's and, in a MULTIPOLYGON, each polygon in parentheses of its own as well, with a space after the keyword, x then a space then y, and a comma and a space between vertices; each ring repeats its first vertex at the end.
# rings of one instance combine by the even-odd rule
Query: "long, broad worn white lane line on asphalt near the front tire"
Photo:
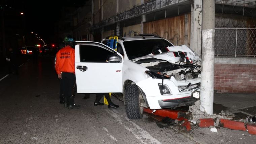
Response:
POLYGON ((135 138, 141 141, 143 144, 161 144, 160 141, 157 139, 153 138, 147 131, 143 130, 142 128, 139 127, 139 125, 135 124, 134 122, 130 121, 128 118, 125 117, 125 120, 122 120, 119 115, 117 115, 114 111, 107 110, 107 112, 115 118, 115 120, 124 126, 126 130, 131 132, 135 138), (132 125, 133 127, 129 127, 127 125, 132 125))

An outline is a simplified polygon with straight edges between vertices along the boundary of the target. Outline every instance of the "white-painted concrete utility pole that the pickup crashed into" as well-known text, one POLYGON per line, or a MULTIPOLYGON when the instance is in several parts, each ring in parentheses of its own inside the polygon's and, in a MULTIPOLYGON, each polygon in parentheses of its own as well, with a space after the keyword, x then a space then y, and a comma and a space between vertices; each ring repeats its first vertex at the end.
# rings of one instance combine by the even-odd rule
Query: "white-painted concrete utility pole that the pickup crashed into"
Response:
POLYGON ((214 87, 214 0, 203 1, 202 10, 202 77, 200 110, 212 115, 214 87))

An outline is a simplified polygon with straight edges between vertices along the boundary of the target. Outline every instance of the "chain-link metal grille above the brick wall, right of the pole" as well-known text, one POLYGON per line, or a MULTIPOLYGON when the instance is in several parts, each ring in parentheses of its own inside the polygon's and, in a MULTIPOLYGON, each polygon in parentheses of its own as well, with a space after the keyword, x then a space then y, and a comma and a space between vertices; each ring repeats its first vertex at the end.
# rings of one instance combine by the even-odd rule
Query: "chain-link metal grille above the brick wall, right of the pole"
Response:
POLYGON ((256 28, 215 28, 215 55, 256 57, 256 28))

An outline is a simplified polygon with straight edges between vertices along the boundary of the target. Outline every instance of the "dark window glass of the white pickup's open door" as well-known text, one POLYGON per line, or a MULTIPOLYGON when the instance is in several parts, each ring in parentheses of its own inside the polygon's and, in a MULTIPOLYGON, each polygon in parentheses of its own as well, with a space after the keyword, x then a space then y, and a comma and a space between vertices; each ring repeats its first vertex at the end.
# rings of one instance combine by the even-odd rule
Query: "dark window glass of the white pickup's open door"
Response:
POLYGON ((93 45, 80 45, 80 62, 106 63, 108 55, 115 54, 113 51, 93 45))

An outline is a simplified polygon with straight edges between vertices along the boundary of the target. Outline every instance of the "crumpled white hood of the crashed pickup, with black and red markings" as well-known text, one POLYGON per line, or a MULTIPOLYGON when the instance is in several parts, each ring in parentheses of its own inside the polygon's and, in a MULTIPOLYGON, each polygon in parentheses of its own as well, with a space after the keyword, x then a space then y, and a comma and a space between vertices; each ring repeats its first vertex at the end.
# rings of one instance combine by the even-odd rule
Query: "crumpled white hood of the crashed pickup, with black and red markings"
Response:
POLYGON ((186 45, 166 47, 157 51, 158 54, 149 54, 139 58, 132 59, 136 62, 142 59, 156 58, 168 61, 175 64, 176 62, 193 63, 195 60, 200 60, 199 56, 186 45), (185 60, 184 60, 185 59, 185 60))

